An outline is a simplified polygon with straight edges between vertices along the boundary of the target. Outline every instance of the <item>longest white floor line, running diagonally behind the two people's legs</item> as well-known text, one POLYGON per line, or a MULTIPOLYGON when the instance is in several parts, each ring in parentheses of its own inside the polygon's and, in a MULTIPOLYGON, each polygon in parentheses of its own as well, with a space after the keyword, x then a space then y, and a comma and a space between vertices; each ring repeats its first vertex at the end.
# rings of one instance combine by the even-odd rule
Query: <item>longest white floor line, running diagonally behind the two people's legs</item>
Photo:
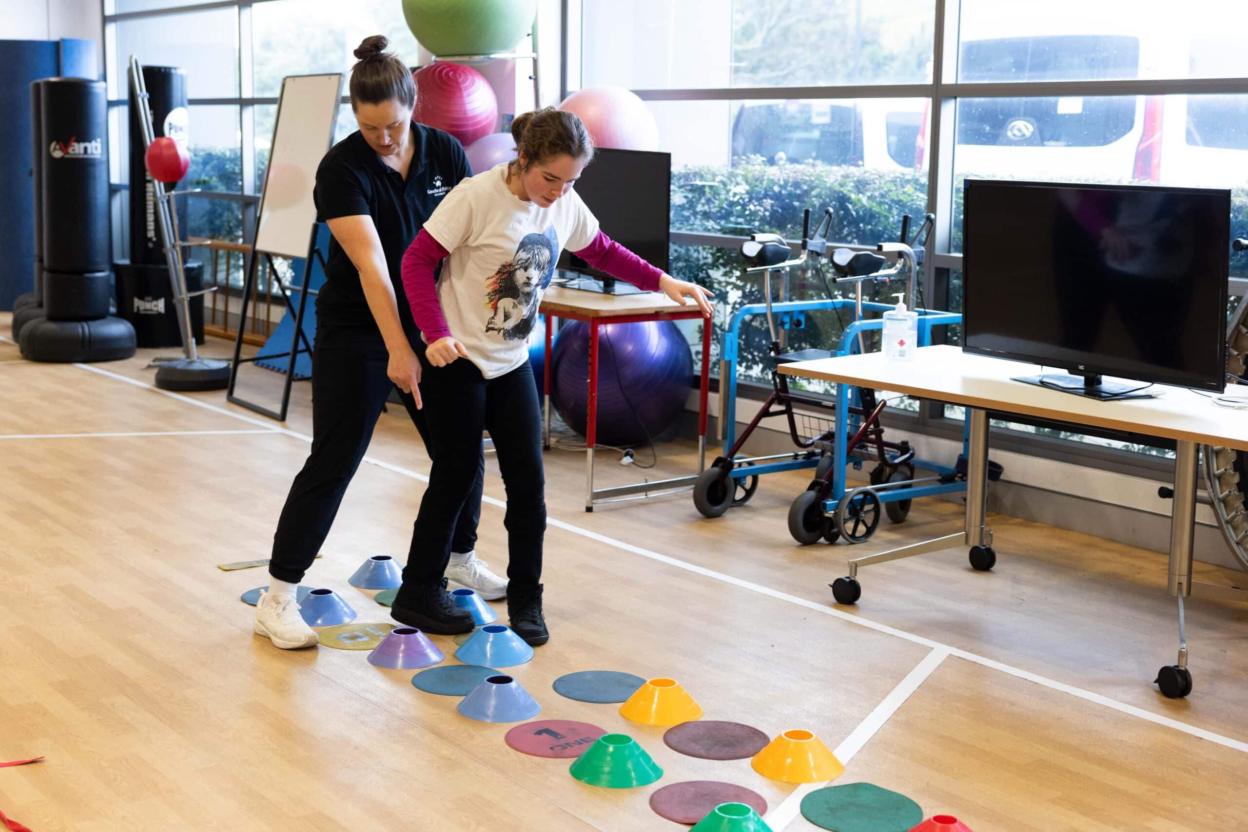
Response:
MULTIPOLYGON (((241 420, 248 422, 251 424, 258 424, 261 427, 271 429, 273 433, 282 433, 282 434, 286 434, 286 435, 290 435, 290 437, 295 437, 297 439, 302 439, 305 442, 312 442, 312 438, 307 437, 305 434, 296 433, 296 432, 288 430, 286 428, 273 428, 271 424, 266 424, 263 422, 260 422, 258 419, 253 419, 251 417, 242 415, 241 413, 235 413, 232 410, 227 410, 227 409, 217 407, 215 404, 208 404, 207 402, 198 402, 196 399, 192 399, 192 398, 186 397, 186 395, 181 395, 178 393, 170 393, 168 390, 161 390, 161 389, 154 387, 152 384, 147 384, 145 382, 139 382, 136 379, 127 378, 125 375, 119 375, 117 373, 112 373, 112 372, 106 370, 106 369, 100 369, 99 367, 91 367, 89 364, 75 364, 75 367, 81 367, 82 369, 91 370, 92 373, 100 373, 101 375, 109 375, 109 377, 120 379, 122 382, 126 382, 129 384, 134 384, 136 387, 145 387, 145 388, 147 388, 150 390, 155 390, 157 393, 161 393, 163 395, 168 395, 171 398, 176 398, 176 399, 182 399, 185 402, 190 402, 191 404, 195 404, 197 407, 205 408, 207 410, 212 410, 215 413, 221 413, 223 415, 228 415, 228 417, 232 417, 235 419, 241 419, 241 420)), ((409 476, 409 478, 419 480, 422 483, 428 483, 429 481, 429 478, 427 475, 424 475, 424 474, 419 474, 419 473, 409 470, 407 468, 402 468, 402 467, 394 465, 392 463, 382 462, 382 460, 374 459, 372 457, 364 457, 363 462, 371 463, 373 465, 377 465, 378 468, 384 468, 386 470, 394 472, 397 474, 402 474, 403 476, 409 476)), ((484 496, 484 498, 482 498, 482 501, 483 503, 488 503, 489 505, 500 506, 500 508, 503 508, 503 506, 507 505, 503 500, 498 500, 498 499, 494 499, 492 496, 484 496)), ((849 621, 851 624, 856 624, 856 625, 866 627, 869 630, 875 630, 876 632, 884 632, 886 635, 896 636, 899 639, 905 639, 906 641, 911 641, 914 644, 921 644, 921 645, 924 645, 926 647, 931 647, 932 650, 937 650, 937 649, 938 650, 946 650, 946 651, 948 651, 948 654, 951 656, 956 656, 958 659, 965 659, 967 661, 972 661, 972 662, 975 662, 977 665, 981 665, 983 667, 991 667, 992 670, 998 670, 998 671, 1001 671, 1003 674, 1008 674, 1010 676, 1015 676, 1016 679, 1022 679, 1022 680, 1026 680, 1026 681, 1030 681, 1030 682, 1035 682, 1037 685, 1043 685, 1045 687, 1048 687, 1050 690, 1060 691, 1062 694, 1070 694, 1071 696, 1082 699, 1086 702, 1092 702, 1094 705, 1101 705, 1101 706, 1108 707, 1111 710, 1118 711, 1119 713, 1127 713, 1128 716, 1134 716, 1134 717, 1138 717, 1138 718, 1144 720, 1147 722, 1152 722, 1154 725, 1161 725, 1161 726, 1167 727, 1167 728, 1173 728, 1176 731, 1182 731, 1183 733, 1191 735, 1193 737, 1199 737, 1202 740, 1208 740, 1209 742, 1216 742, 1216 743, 1218 743, 1221 746, 1224 746, 1227 748, 1233 748, 1234 751, 1241 751, 1243 753, 1248 753, 1248 742, 1242 742, 1239 740, 1232 740, 1231 737, 1222 736, 1221 733, 1216 733, 1216 732, 1208 731, 1206 728, 1199 728, 1199 727, 1197 727, 1194 725, 1188 725, 1187 722, 1179 722, 1178 720, 1172 720, 1168 716, 1162 716, 1161 713, 1153 713, 1151 711, 1146 711, 1142 707, 1136 707, 1134 705, 1127 705, 1126 702, 1119 702, 1117 700, 1112 700, 1108 696, 1102 696, 1101 694, 1093 694, 1092 691, 1086 691, 1086 690, 1083 690, 1081 687, 1075 687, 1073 685, 1067 685, 1065 682, 1060 682, 1057 680, 1048 679, 1046 676, 1041 676, 1038 674, 1033 674, 1031 671, 1022 670, 1020 667, 1013 667, 1012 665, 1007 665, 1005 662, 1000 662, 1000 661, 996 661, 993 659, 988 659, 986 656, 980 656, 977 654, 968 652, 966 650, 960 650, 957 647, 951 647, 950 645, 941 644, 941 642, 934 641, 931 639, 925 639, 924 636, 917 636, 917 635, 915 635, 912 632, 906 632, 905 630, 897 630, 896 627, 890 627, 886 624, 877 624, 875 621, 871 621, 870 619, 864 619, 864 617, 857 616, 857 615, 850 615, 849 612, 844 612, 844 611, 837 610, 837 609, 835 609, 832 606, 829 606, 826 604, 819 604, 816 601, 811 601, 811 600, 807 600, 807 599, 804 599, 804 597, 799 597, 796 595, 790 595, 787 593, 781 593, 779 590, 774 590, 774 589, 771 589, 769 586, 763 586, 760 584, 754 584, 751 581, 741 580, 740 578, 734 578, 733 575, 725 575, 724 573, 716 573, 713 569, 706 569, 704 566, 698 566, 696 564, 690 564, 690 563, 686 563, 684 560, 678 560, 675 558, 669 558, 668 555, 660 555, 656 551, 650 551, 649 549, 643 549, 640 546, 634 546, 630 543, 624 543, 623 540, 617 540, 615 538, 608 538, 604 534, 599 534, 597 531, 590 531, 589 529, 583 529, 580 526, 573 525, 570 523, 565 523, 563 520, 558 520, 558 519, 554 519, 554 518, 548 518, 547 519, 547 524, 552 525, 552 526, 555 526, 558 529, 563 529, 564 531, 570 531, 572 534, 577 534, 577 535, 580 535, 583 538, 588 538, 590 540, 597 540, 599 543, 604 543, 604 544, 607 544, 609 546, 614 546, 615 549, 622 549, 624 551, 630 551, 630 553, 633 553, 635 555, 641 555, 643 558, 649 558, 650 560, 656 560, 656 561, 659 561, 661 564, 668 564, 669 566, 675 566, 676 569, 684 569, 686 571, 695 573, 698 575, 704 575, 706 578, 713 578, 713 579, 715 579, 718 581, 723 581, 725 584, 731 584, 734 586, 740 586, 741 589, 748 589, 750 591, 759 593, 761 595, 768 595, 770 597, 774 597, 774 599, 778 599, 778 600, 781 600, 781 601, 787 601, 789 604, 796 604, 797 606, 802 606, 802 607, 805 607, 807 610, 812 610, 812 611, 820 612, 822 615, 830 615, 832 617, 841 619, 841 620, 849 621)))

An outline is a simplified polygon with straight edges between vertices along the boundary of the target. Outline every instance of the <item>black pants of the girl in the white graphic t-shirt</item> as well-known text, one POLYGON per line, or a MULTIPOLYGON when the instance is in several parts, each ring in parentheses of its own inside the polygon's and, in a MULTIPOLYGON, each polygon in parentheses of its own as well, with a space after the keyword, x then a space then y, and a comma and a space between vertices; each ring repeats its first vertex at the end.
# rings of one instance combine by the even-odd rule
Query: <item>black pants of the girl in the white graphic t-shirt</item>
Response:
POLYGON ((473 460, 480 454, 482 430, 489 430, 507 488, 508 593, 535 589, 542 580, 545 534, 545 475, 542 472, 542 417, 533 368, 528 362, 505 375, 487 379, 459 358, 432 367, 421 354, 421 392, 433 442, 433 470, 421 500, 404 584, 442 578, 457 534, 456 518, 479 499, 480 479, 473 460))

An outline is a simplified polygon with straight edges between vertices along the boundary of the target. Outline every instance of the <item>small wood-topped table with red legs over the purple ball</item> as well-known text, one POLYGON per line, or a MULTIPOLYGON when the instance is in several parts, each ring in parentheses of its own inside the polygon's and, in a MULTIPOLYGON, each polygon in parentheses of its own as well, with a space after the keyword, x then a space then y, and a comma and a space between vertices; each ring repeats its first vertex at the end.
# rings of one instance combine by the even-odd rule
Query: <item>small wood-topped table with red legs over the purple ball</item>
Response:
POLYGON ((698 397, 698 472, 654 481, 617 485, 594 490, 594 443, 598 439, 598 328, 604 323, 641 323, 645 321, 691 321, 701 318, 701 309, 693 301, 680 306, 661 292, 644 294, 602 294, 583 289, 550 287, 539 308, 547 316, 545 362, 543 368, 544 414, 542 444, 550 448, 550 343, 554 339, 554 318, 583 321, 589 324, 589 398, 585 414, 585 510, 598 503, 636 500, 659 494, 691 490, 698 474, 706 468, 706 400, 710 394, 711 327, 703 327, 701 382, 698 397))

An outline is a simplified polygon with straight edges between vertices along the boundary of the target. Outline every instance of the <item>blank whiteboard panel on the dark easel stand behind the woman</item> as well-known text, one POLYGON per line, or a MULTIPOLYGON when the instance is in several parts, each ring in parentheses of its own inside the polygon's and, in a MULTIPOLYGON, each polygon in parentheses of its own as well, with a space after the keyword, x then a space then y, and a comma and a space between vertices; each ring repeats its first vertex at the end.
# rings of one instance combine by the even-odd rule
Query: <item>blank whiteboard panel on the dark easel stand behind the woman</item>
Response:
POLYGON ((342 74, 288 75, 282 80, 273 143, 260 197, 256 251, 307 257, 316 225, 316 170, 333 143, 342 74))

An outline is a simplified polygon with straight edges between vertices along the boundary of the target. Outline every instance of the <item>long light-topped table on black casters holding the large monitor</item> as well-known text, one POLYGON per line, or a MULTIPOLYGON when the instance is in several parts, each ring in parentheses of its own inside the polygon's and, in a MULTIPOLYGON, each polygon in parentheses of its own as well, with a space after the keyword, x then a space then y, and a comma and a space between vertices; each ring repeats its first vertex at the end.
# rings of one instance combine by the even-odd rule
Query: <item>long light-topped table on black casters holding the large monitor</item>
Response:
MULTIPOLYGON (((870 564, 966 545, 972 566, 992 569, 996 553, 992 550, 992 531, 986 525, 990 410, 1174 440, 1169 594, 1178 599, 1179 650, 1178 662, 1163 666, 1158 674, 1157 684, 1166 696, 1178 699, 1192 690, 1192 676, 1187 670, 1183 599, 1194 595, 1248 601, 1248 591, 1192 580, 1198 447, 1213 444, 1248 450, 1248 410, 1218 407, 1208 395, 1163 384, 1154 388, 1161 397, 1149 399, 1101 402, 1072 395, 1012 380, 1020 375, 1037 375, 1040 368, 1033 364, 963 353, 960 347, 950 346, 924 347, 909 362, 887 360, 882 353, 867 353, 782 364, 780 372, 835 382, 837 397, 846 395, 850 385, 861 385, 961 404, 970 410, 965 531, 851 560, 849 576, 839 578, 832 584, 837 602, 852 604, 857 600, 861 594, 857 571, 870 564)), ((1055 375, 1060 373, 1053 370, 1055 375)))

